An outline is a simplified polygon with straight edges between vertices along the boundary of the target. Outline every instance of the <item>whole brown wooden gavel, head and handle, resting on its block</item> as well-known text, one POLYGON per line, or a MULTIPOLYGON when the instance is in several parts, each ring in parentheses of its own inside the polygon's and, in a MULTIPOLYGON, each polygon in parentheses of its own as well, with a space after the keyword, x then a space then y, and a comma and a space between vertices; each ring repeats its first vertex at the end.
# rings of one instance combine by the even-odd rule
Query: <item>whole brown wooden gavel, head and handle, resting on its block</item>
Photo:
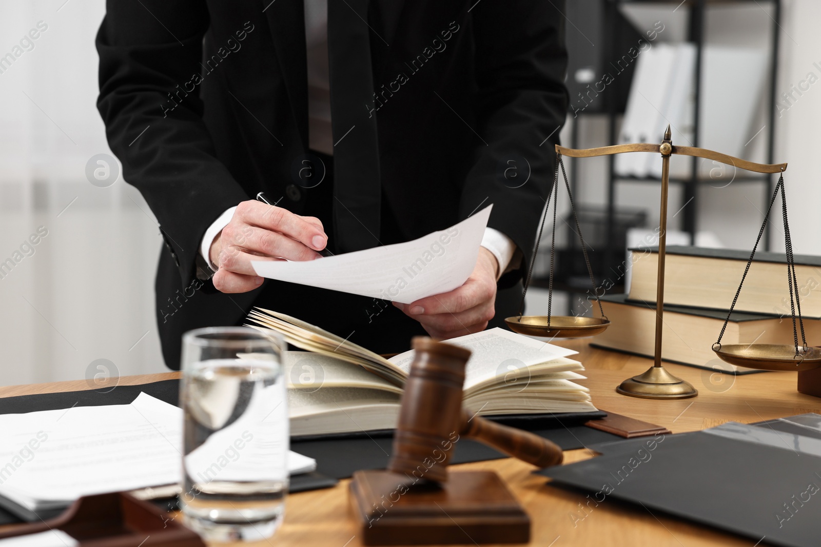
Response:
POLYGON ((456 443, 468 437, 537 467, 562 463, 562 449, 527 431, 502 426, 462 408, 462 386, 470 350, 413 339, 415 358, 401 398, 388 471, 427 481, 447 481, 456 443))

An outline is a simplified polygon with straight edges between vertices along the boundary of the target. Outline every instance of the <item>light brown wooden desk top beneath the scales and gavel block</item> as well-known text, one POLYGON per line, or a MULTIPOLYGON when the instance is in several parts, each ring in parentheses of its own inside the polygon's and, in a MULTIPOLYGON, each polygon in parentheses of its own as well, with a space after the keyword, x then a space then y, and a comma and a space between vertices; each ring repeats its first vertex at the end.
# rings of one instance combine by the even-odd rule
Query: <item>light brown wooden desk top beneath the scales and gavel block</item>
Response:
MULTIPOLYGON (((614 413, 667 426, 674 433, 718 426, 723 422, 759 422, 775 417, 821 413, 821 399, 796 391, 796 375, 791 372, 762 372, 749 376, 718 375, 693 367, 666 364, 673 374, 690 381, 699 390, 695 399, 654 401, 634 399, 616 393, 616 386, 629 376, 644 372, 649 359, 590 348, 585 340, 562 342, 580 352, 577 357, 587 368, 587 385, 594 404, 614 413)), ((179 377, 178 372, 126 376, 112 381, 136 385, 179 377)), ((99 385, 86 381, 20 385, 0 388, 0 397, 85 390, 99 385)), ((585 449, 565 452, 566 463, 590 458, 585 449)), ((675 545, 697 547, 722 545, 753 547, 754 541, 665 517, 660 513, 635 508, 605 499, 586 513, 580 508, 585 495, 560 490, 544 476, 533 475, 534 467, 507 458, 489 462, 464 463, 459 469, 493 469, 511 488, 530 513, 533 522, 530 545, 540 547, 640 547, 675 545)), ((290 495, 286 517, 277 536, 259 545, 299 545, 311 547, 355 547, 361 545, 355 522, 348 509, 348 481, 326 490, 290 495)), ((763 542, 759 545, 764 545, 763 542)), ((473 545, 466 539, 467 545, 473 545)))

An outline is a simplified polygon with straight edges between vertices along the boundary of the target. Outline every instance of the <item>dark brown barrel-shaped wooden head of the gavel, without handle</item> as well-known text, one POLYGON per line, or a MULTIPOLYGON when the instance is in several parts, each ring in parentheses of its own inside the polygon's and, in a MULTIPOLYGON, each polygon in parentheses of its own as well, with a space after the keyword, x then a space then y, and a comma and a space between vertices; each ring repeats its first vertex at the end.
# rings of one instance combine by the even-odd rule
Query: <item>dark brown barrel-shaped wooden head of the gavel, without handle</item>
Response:
POLYGON ((470 350, 413 339, 415 358, 401 398, 388 471, 447 481, 447 463, 461 431, 462 385, 470 350))

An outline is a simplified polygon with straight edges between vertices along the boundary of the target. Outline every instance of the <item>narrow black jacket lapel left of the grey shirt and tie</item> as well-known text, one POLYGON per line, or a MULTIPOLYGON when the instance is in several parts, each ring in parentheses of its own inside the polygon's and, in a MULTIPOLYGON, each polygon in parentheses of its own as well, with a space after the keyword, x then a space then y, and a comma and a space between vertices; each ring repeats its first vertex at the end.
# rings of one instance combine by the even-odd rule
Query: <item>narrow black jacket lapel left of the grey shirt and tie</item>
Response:
POLYGON ((305 57, 303 0, 262 0, 291 112, 302 143, 308 147, 308 68, 305 57), (267 6, 267 8, 266 8, 267 6))

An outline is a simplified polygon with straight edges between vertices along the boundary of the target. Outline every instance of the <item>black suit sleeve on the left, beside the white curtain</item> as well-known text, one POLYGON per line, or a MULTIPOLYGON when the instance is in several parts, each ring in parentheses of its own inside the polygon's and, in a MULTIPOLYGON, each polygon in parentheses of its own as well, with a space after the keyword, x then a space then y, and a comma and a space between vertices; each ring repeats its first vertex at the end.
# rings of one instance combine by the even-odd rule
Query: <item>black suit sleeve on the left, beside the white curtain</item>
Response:
POLYGON ((202 71, 208 11, 202 0, 108 0, 106 9, 97 107, 123 178, 157 217, 185 286, 205 230, 248 198, 217 159, 190 84, 202 71))

